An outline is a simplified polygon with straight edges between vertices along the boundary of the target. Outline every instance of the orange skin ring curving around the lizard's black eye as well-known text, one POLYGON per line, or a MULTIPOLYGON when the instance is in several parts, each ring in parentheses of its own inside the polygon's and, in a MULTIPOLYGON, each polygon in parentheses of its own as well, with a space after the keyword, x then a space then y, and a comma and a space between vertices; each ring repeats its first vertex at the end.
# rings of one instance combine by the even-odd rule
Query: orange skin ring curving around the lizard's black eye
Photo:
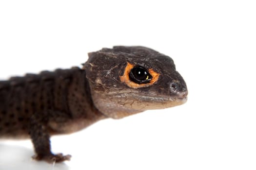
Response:
POLYGON ((159 73, 155 72, 152 68, 150 68, 148 70, 149 74, 152 76, 151 80, 149 81, 149 83, 146 84, 138 84, 135 83, 133 81, 130 80, 129 74, 131 72, 131 70, 135 67, 135 65, 130 64, 127 62, 127 65, 125 67, 124 73, 122 76, 120 76, 120 81, 125 83, 126 85, 128 85, 131 88, 140 88, 140 87, 146 87, 146 86, 150 86, 153 85, 154 83, 156 83, 158 81, 158 77, 159 77, 159 73))

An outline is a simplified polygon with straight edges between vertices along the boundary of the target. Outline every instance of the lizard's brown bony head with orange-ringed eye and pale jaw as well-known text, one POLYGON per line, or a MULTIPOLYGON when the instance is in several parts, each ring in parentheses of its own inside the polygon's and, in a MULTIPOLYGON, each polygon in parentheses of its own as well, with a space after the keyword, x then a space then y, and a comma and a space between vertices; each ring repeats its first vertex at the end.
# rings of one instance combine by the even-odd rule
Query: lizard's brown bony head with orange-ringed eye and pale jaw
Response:
POLYGON ((187 86, 172 58, 145 47, 90 52, 84 64, 95 106, 119 119, 187 101, 187 86))

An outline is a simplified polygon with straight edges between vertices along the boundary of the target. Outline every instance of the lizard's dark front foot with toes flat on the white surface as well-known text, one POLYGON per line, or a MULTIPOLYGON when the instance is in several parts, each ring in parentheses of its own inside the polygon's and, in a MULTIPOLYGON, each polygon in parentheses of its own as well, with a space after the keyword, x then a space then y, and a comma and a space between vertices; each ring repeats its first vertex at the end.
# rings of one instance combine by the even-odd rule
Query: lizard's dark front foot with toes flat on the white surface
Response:
POLYGON ((63 161, 70 161, 71 155, 63 155, 62 153, 59 154, 47 154, 47 155, 34 155, 32 156, 35 160, 44 160, 48 163, 60 163, 63 161))

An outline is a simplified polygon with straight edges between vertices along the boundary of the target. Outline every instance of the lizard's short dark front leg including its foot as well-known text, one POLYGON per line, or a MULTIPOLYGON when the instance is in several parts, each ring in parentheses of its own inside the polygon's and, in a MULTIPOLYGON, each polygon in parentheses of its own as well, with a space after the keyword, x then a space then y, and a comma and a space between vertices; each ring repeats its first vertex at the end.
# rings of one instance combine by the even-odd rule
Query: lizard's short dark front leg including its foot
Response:
POLYGON ((31 118, 29 134, 36 152, 36 155, 33 156, 34 159, 44 160, 49 163, 70 160, 71 155, 53 154, 51 152, 50 135, 42 119, 36 116, 31 118))

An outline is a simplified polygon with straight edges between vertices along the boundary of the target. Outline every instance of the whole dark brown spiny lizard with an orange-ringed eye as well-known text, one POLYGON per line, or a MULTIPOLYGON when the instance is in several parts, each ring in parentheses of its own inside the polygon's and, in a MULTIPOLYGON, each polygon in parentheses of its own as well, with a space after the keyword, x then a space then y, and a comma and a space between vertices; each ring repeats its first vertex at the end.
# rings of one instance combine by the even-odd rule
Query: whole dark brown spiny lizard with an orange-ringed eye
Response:
POLYGON ((71 155, 52 153, 50 136, 187 101, 186 83, 167 55, 114 46, 88 56, 82 68, 0 81, 0 138, 31 138, 35 160, 63 162, 71 155))

